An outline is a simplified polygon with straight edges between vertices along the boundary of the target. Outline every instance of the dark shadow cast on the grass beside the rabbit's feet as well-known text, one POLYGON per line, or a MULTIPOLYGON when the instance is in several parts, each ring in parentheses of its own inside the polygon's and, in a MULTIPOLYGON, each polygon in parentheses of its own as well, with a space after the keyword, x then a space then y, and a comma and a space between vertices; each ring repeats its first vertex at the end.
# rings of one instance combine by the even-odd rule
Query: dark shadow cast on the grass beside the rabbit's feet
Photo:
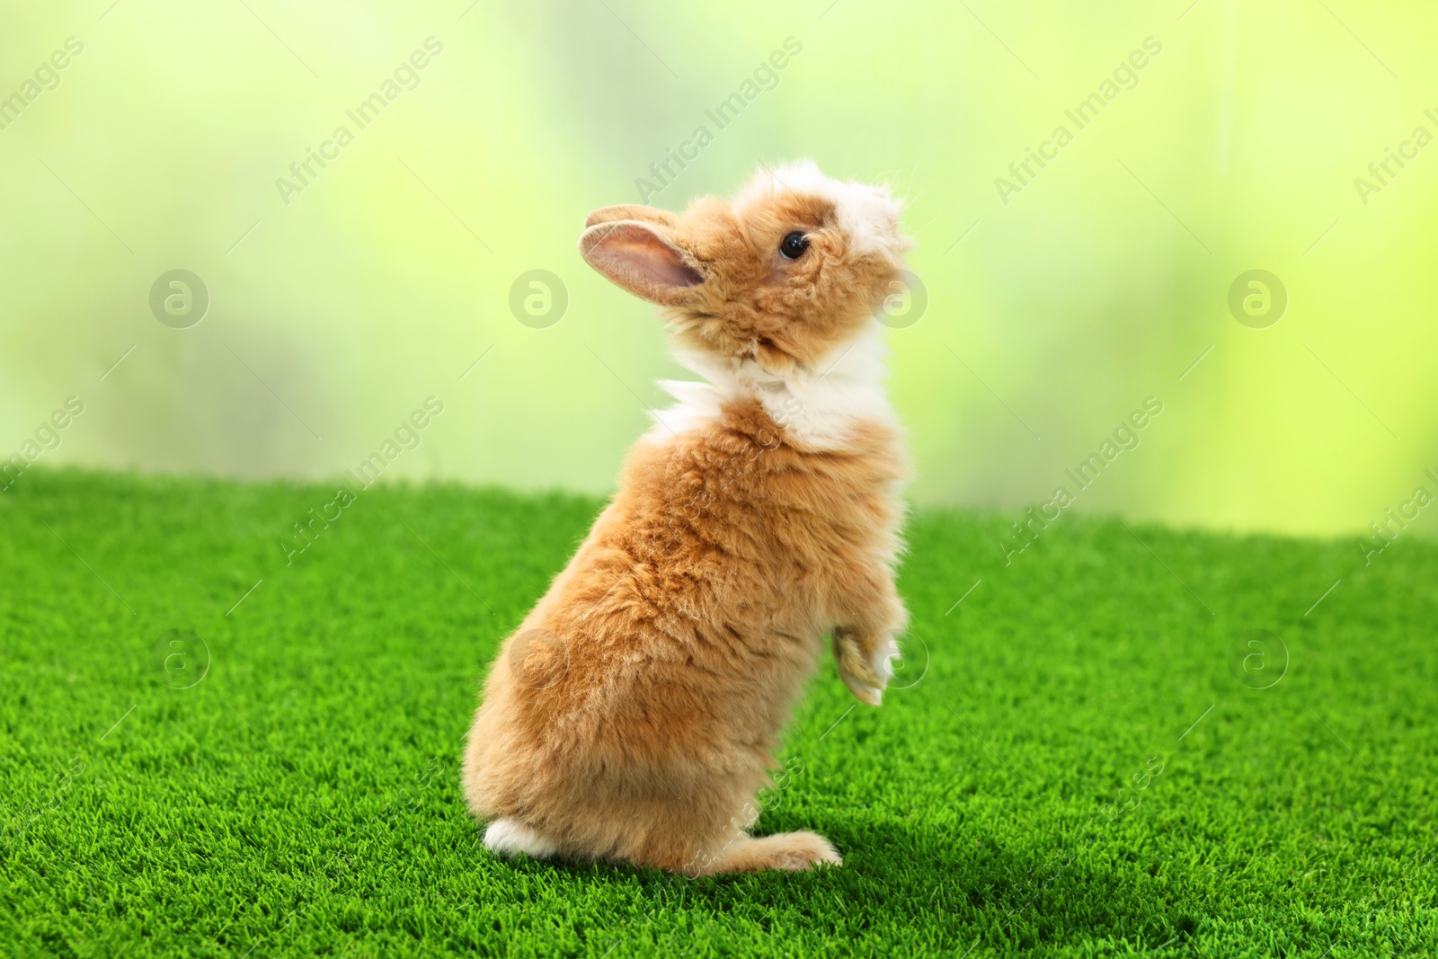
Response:
POLYGON ((614 864, 521 858, 505 867, 628 890, 627 910, 615 913, 603 933, 594 930, 604 947, 640 947, 664 930, 692 929, 712 917, 732 923, 741 937, 743 927, 754 936, 823 929, 828 937, 877 947, 892 945, 896 933, 899 940, 912 933, 955 956, 969 949, 979 956, 1093 942, 1176 955, 1202 922, 1175 906, 1158 883, 1145 890, 1132 873, 1080 863, 1063 850, 1040 855, 991 843, 955 845, 939 830, 917 825, 835 824, 820 831, 844 850, 843 867, 696 880, 614 864))

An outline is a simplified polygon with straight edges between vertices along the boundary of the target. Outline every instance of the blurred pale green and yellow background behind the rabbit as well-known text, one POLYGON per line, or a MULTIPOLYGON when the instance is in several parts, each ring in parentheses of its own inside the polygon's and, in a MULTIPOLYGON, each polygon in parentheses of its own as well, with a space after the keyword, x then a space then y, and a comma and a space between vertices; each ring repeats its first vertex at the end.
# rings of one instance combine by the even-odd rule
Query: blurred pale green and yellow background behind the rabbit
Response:
POLYGON ((0 96, 20 99, 0 109, 0 456, 76 395, 37 463, 325 477, 433 395, 443 414, 385 477, 607 490, 666 401, 653 380, 682 371, 575 240, 703 125, 651 203, 802 155, 907 198, 928 308, 889 338, 920 503, 1045 502, 1146 397, 1163 413, 1076 509, 1353 533, 1438 492, 1438 147, 1402 147, 1438 134, 1432 4, 95 0, 3 19, 0 96), (429 37, 441 50, 397 78, 429 37), (720 129, 705 111, 788 37, 801 52, 720 129), (1066 111, 1149 37, 1162 50, 1080 129, 1066 111), (361 128, 347 111, 375 92, 361 128), (341 125, 352 142, 325 147, 341 125), (1073 141, 1001 196, 1060 125, 1073 141), (1389 148, 1405 167, 1360 196, 1389 148), (173 269, 211 300, 186 329, 150 308, 173 269), (535 269, 568 293, 545 328, 509 306, 535 269), (1287 290, 1277 324, 1229 311, 1251 269, 1287 290))

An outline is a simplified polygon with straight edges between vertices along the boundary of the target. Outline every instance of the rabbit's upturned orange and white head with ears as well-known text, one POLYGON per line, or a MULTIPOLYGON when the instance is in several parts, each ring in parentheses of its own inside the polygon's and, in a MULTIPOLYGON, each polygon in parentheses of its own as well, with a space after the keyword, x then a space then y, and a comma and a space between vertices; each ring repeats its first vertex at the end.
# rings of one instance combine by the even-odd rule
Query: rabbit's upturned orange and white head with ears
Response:
POLYGON ((659 303, 683 348, 785 375, 814 370, 881 308, 910 246, 899 210, 887 188, 801 161, 761 170, 731 203, 595 210, 580 252, 659 303))

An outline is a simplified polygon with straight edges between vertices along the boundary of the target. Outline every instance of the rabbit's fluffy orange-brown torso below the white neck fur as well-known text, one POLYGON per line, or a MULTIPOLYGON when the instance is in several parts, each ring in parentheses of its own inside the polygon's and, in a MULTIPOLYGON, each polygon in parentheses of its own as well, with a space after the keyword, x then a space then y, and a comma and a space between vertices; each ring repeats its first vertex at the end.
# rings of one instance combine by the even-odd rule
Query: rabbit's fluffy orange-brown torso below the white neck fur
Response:
POLYGON ((896 449, 874 424, 844 453, 804 451, 758 404, 637 446, 615 500, 509 640, 555 637, 562 676, 549 663, 532 680, 510 648, 490 673, 466 761, 475 811, 633 858, 626 843, 687 835, 700 809, 761 788, 833 621, 837 571, 896 548, 896 449))

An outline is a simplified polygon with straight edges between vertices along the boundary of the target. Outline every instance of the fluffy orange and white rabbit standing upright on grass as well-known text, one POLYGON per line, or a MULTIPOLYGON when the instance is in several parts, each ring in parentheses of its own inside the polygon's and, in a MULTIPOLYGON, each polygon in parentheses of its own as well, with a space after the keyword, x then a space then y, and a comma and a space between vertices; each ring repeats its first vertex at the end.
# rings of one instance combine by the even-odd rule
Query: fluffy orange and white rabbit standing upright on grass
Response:
POLYGON ((800 161, 732 203, 585 220, 584 259, 659 305, 706 382, 660 384, 677 405, 490 669, 463 788, 495 854, 690 877, 843 863, 814 832, 748 830, 823 637, 879 706, 907 624, 879 322, 912 244, 899 214, 800 161))

